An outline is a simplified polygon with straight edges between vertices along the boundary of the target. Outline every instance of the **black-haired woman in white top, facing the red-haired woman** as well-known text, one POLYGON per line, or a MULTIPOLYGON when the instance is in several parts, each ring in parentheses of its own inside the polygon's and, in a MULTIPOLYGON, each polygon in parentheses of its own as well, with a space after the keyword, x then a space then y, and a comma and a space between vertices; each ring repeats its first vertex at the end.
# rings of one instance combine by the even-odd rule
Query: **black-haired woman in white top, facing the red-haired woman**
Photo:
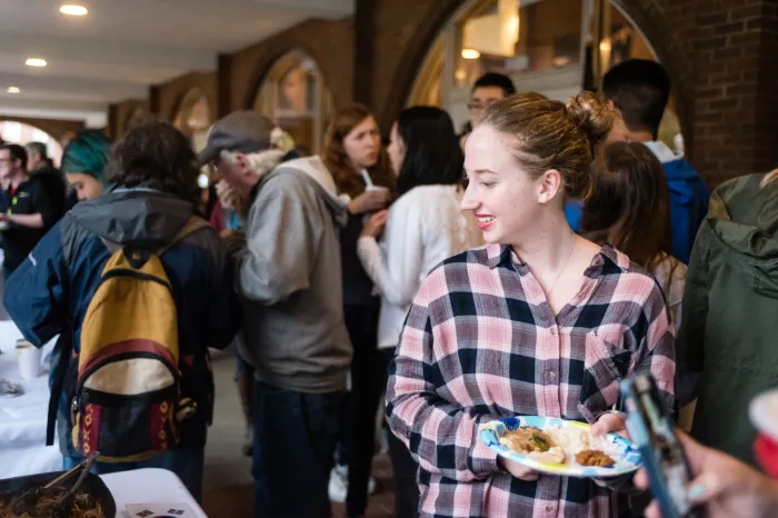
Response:
MULTIPOLYGON (((440 261, 480 245, 475 219, 459 209, 465 157, 451 118, 432 107, 408 108, 392 126, 389 159, 397 178, 397 201, 377 212, 362 230, 359 257, 381 292, 378 347, 387 362, 395 355, 402 322, 421 281, 440 261), (376 241, 383 230, 383 242, 376 241)), ((386 372, 386 367, 385 367, 386 372)), ((386 377, 381 380, 386 385, 386 377)), ((396 515, 416 516, 417 464, 408 448, 389 438, 396 484, 396 515)))

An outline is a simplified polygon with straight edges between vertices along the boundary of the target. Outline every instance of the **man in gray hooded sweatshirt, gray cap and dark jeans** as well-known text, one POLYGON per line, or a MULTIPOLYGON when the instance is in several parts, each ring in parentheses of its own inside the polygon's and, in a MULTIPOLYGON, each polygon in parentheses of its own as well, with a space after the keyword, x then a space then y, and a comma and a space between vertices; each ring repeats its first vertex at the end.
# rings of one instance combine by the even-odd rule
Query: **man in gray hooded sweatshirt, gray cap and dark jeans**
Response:
POLYGON ((200 160, 251 203, 239 280, 241 352, 256 368, 256 516, 329 518, 352 355, 338 243, 347 200, 318 157, 279 166, 279 132, 256 112, 231 113, 211 129, 200 160))

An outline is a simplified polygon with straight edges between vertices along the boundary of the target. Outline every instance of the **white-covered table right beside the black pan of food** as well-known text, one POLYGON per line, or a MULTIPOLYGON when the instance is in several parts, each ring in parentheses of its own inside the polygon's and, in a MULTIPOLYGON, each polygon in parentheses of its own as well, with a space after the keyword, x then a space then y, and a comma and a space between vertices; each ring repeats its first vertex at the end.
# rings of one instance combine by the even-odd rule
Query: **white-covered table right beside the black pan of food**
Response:
POLYGON ((117 502, 117 518, 129 518, 128 504, 186 504, 197 518, 208 518, 172 471, 146 468, 101 475, 117 502))

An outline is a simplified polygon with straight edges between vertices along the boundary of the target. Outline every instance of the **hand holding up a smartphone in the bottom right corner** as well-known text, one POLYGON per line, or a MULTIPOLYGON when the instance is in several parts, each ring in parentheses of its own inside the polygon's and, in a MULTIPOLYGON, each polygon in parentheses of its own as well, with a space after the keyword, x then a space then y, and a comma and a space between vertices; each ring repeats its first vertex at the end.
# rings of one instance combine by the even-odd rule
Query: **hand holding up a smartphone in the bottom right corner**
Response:
MULTIPOLYGON (((778 516, 778 482, 720 451, 707 448, 686 434, 676 434, 684 445, 695 479, 688 495, 694 505, 705 504, 708 518, 732 516, 778 516)), ((649 487, 646 469, 638 471, 635 484, 649 487)), ((646 510, 647 518, 661 518, 656 501, 646 510)))

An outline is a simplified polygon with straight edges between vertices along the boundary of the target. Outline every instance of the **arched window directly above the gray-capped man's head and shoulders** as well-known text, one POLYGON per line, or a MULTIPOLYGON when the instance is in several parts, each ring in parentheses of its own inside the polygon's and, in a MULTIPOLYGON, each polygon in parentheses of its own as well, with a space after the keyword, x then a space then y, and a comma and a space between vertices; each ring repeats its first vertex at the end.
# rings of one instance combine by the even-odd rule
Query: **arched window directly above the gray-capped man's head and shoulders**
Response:
POLYGON ((288 131, 298 147, 318 153, 333 111, 333 101, 316 61, 295 50, 270 68, 253 108, 288 131))

